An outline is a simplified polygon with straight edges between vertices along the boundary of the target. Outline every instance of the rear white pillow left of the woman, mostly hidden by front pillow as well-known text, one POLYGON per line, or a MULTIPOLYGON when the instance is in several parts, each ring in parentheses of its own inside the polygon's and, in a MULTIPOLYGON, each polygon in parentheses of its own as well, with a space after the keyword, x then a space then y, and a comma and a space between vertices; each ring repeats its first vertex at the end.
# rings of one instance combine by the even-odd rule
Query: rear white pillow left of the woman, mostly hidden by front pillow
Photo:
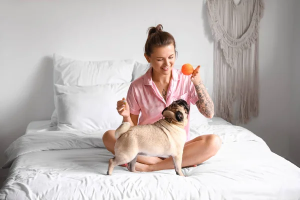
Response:
MULTIPOLYGON (((133 59, 81 61, 59 54, 53 55, 53 83, 62 85, 97 85, 130 82, 133 59)), ((54 105, 56 107, 55 97, 54 105)), ((51 126, 57 125, 56 109, 51 116, 51 126)))

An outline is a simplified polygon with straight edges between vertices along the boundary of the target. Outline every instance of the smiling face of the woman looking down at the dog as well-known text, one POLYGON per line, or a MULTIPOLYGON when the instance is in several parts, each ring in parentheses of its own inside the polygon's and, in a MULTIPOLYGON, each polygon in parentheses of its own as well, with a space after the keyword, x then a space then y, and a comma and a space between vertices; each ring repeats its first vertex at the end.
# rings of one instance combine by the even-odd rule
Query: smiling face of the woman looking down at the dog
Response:
POLYGON ((145 57, 157 74, 168 75, 175 62, 174 45, 154 47, 153 53, 145 57))

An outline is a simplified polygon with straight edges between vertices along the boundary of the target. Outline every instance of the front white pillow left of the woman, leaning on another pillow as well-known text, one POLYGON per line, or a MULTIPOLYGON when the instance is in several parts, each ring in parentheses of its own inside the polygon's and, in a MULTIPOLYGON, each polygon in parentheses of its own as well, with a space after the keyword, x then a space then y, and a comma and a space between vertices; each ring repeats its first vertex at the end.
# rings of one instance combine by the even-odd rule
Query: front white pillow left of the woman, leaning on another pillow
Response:
POLYGON ((116 129, 122 122, 117 100, 126 97, 130 82, 90 86, 54 84, 57 129, 92 132, 116 129))

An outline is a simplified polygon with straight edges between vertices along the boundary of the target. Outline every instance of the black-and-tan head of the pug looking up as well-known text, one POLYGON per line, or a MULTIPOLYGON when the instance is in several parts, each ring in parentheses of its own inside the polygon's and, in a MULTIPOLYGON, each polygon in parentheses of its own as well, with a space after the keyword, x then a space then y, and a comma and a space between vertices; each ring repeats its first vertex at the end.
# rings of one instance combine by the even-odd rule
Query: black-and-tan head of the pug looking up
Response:
POLYGON ((173 101, 169 106, 162 110, 162 115, 170 117, 177 122, 187 123, 187 115, 189 112, 189 105, 183 99, 173 101), (171 113, 172 112, 172 113, 171 113))

